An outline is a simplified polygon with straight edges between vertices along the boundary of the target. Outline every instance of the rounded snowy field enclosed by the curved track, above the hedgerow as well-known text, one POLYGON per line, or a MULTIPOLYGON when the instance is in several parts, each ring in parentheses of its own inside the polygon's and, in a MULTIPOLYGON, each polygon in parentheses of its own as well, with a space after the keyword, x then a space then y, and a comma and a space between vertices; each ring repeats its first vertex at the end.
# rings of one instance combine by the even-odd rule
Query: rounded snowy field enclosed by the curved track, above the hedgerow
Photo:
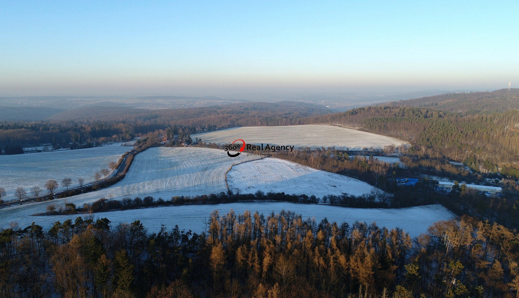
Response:
POLYGON ((227 182, 231 190, 239 190, 240 193, 261 190, 265 193, 313 194, 317 197, 343 192, 360 196, 375 189, 358 179, 276 158, 235 165, 227 173, 227 182))

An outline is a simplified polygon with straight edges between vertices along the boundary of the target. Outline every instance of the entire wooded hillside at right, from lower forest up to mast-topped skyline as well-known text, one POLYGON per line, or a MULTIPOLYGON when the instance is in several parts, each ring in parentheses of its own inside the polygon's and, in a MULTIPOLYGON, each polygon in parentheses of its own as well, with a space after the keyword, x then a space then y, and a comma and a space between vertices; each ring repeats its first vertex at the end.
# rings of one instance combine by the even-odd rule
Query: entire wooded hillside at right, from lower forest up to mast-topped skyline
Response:
POLYGON ((301 122, 343 125, 400 138, 413 145, 409 149, 413 154, 477 160, 488 171, 496 165, 519 168, 519 89, 428 96, 301 122))

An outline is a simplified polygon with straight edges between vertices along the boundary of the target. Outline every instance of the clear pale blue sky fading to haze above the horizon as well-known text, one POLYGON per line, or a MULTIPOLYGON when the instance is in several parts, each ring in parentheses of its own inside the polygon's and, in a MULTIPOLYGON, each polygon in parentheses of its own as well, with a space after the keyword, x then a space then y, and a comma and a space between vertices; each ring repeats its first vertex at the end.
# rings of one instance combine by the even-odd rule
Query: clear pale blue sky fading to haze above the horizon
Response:
POLYGON ((518 19, 517 1, 2 1, 0 96, 518 87, 518 19))

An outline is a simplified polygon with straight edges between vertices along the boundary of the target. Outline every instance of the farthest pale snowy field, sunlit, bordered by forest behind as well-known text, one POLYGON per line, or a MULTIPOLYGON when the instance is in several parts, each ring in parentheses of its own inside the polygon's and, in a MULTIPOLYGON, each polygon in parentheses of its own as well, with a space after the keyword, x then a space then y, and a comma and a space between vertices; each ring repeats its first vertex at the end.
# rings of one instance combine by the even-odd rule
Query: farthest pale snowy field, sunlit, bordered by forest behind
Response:
POLYGON ((243 139, 247 144, 294 145, 295 147, 332 147, 337 149, 362 150, 384 146, 407 145, 392 137, 361 132, 330 125, 252 126, 206 132, 191 136, 204 142, 230 144, 243 139))

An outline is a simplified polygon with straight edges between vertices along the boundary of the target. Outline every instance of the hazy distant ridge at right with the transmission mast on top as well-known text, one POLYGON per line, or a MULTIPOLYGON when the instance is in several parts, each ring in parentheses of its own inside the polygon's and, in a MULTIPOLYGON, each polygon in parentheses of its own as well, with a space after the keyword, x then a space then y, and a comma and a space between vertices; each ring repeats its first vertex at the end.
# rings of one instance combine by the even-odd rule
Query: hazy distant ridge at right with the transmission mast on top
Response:
POLYGON ((476 113, 503 112, 519 109, 519 89, 492 92, 450 93, 389 103, 391 106, 423 107, 435 110, 476 113))

